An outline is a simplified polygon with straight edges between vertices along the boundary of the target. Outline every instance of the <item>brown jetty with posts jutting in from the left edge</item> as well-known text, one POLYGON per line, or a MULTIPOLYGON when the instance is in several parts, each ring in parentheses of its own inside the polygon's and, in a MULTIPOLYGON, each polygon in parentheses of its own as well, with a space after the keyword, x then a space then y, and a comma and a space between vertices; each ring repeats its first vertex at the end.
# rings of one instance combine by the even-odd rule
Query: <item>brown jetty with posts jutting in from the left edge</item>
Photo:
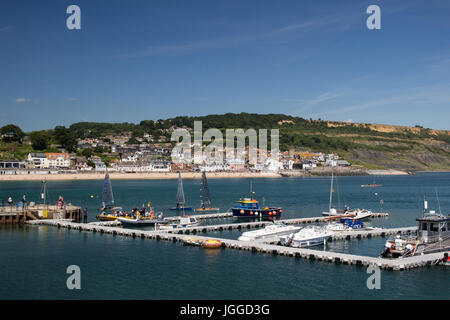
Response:
POLYGON ((81 221, 81 207, 71 204, 60 208, 57 205, 35 204, 31 202, 25 207, 0 207, 0 224, 24 223, 27 220, 40 219, 72 219, 81 221))

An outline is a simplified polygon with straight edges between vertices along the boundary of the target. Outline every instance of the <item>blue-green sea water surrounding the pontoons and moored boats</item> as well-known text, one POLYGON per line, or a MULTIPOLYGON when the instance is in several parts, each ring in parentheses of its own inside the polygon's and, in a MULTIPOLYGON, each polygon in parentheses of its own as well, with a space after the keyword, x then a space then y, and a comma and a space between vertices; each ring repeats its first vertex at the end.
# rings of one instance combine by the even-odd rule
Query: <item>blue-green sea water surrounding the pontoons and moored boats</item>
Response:
MULTIPOLYGON (((214 206, 227 211, 249 190, 249 179, 209 179, 214 206)), ((184 180, 188 204, 199 202, 199 181, 184 180)), ((339 177, 342 203, 378 210, 388 218, 374 226, 410 226, 422 211, 425 194, 450 212, 450 174, 397 177, 339 177), (361 188, 376 180, 381 188, 361 188), (378 192, 378 195, 375 195, 378 192)), ((124 208, 151 201, 166 215, 176 198, 176 180, 112 181, 124 208)), ((256 197, 282 206, 284 218, 319 216, 328 208, 329 178, 253 179, 256 197)), ((95 220, 102 181, 48 182, 50 201, 89 209, 95 220), (91 198, 91 195, 93 198, 91 198)), ((336 189, 337 191, 337 189, 336 189)), ((39 198, 39 182, 1 182, 0 199, 39 198)), ((336 192, 337 193, 337 192, 336 192)), ((221 219, 205 223, 231 222, 221 219)), ((210 233, 237 238, 238 231, 210 233)), ((385 239, 336 242, 326 250, 377 256, 385 239)), ((365 268, 235 250, 204 250, 178 243, 70 231, 45 226, 0 227, 0 299, 449 299, 449 270, 427 267, 382 271, 381 290, 369 290, 365 268), (66 268, 81 268, 82 290, 66 288, 66 268)), ((318 247, 318 250, 323 248, 318 247)))

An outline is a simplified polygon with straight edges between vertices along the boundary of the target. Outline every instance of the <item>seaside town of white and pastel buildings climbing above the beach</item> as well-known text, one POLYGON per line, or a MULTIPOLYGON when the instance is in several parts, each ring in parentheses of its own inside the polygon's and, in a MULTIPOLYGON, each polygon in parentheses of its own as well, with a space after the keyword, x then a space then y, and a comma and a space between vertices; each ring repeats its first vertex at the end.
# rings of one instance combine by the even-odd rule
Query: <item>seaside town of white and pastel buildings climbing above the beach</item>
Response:
MULTIPOLYGON (((2 139, 10 138, 13 133, 3 134, 2 139)), ((149 134, 143 138, 132 138, 131 133, 101 138, 77 139, 76 152, 67 152, 60 147, 60 152, 30 152, 24 160, 0 159, 0 174, 3 175, 30 175, 30 174, 64 174, 64 173, 92 173, 109 172, 118 173, 150 173, 150 172, 310 172, 314 168, 324 167, 350 167, 351 164, 336 153, 310 152, 291 148, 279 152, 276 157, 268 157, 264 161, 249 161, 247 146, 243 160, 230 159, 221 162, 194 164, 189 161, 173 161, 182 155, 172 157, 173 144, 160 138, 153 142, 149 134), (136 139, 137 143, 130 143, 136 139), (101 154, 101 156, 96 155, 101 154)), ((24 141, 24 144, 27 142, 24 141)), ((31 142, 28 142, 31 144, 31 142)), ((193 145, 192 145, 193 148, 193 145)), ((224 154, 227 148, 224 148, 224 154)), ((2 154, 3 155, 3 154, 2 154)), ((11 159, 12 158, 12 159, 11 159)))

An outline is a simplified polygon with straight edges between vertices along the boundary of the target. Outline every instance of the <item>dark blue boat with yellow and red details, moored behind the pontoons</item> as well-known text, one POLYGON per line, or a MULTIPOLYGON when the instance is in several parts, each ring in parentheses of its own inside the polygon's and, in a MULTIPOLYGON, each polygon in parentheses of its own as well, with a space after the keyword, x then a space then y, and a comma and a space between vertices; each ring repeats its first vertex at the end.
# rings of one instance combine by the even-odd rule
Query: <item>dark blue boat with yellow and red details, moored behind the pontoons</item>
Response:
POLYGON ((241 198, 236 201, 236 204, 231 208, 233 217, 237 218, 276 218, 280 217, 283 210, 281 208, 274 207, 260 207, 259 202, 254 199, 255 192, 253 191, 253 185, 250 182, 250 198, 241 198))

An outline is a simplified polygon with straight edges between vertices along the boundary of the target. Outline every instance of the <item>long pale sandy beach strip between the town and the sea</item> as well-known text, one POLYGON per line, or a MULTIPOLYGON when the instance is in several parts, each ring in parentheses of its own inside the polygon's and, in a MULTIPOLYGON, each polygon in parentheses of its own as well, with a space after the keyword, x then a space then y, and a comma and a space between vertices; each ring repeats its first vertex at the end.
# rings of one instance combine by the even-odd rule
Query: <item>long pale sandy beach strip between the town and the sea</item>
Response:
MULTIPOLYGON (((448 171, 421 171, 423 172, 448 172, 448 171)), ((201 179, 201 172, 182 172, 183 179, 201 179)), ((311 173, 304 171, 282 172, 207 172, 208 179, 236 179, 236 178, 301 178, 331 176, 331 170, 313 170, 311 173)), ((112 180, 166 180, 178 179, 177 172, 145 172, 145 173, 118 173, 110 172, 112 180)), ((337 170, 335 175, 341 176, 393 176, 408 175, 401 170, 337 170)), ((96 173, 60 173, 60 174, 3 174, 0 181, 63 181, 63 180, 103 180, 104 172, 96 173)))

